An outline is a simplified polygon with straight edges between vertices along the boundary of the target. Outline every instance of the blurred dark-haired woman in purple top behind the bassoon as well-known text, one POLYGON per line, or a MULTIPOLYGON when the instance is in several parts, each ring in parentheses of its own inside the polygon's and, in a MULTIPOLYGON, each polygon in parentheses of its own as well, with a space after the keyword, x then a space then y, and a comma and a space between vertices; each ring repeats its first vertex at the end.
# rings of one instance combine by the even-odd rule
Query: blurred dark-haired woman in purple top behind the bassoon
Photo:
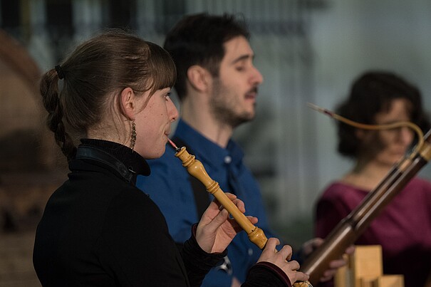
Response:
MULTIPOLYGON (((430 129, 419 90, 393 73, 361 75, 337 113, 366 124, 410 121, 430 129)), ((407 127, 368 131, 338 122, 338 152, 355 165, 318 199, 316 236, 327 236, 357 207, 415 140, 407 127)), ((385 274, 403 274, 406 287, 425 286, 431 275, 431 183, 412 179, 355 244, 380 244, 385 274)))

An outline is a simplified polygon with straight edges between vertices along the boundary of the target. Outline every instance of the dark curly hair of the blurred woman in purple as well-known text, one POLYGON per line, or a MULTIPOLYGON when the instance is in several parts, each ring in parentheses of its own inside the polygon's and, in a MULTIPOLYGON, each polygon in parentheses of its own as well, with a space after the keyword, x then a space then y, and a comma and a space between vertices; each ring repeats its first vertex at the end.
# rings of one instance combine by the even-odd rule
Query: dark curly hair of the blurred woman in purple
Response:
MULTIPOLYGON (((430 129, 430 121, 422 108, 420 90, 399 75, 387 71, 368 71, 360 75, 350 88, 348 98, 338 105, 336 113, 345 118, 375 124, 375 115, 390 110, 395 99, 411 103, 410 121, 423 132, 430 129)), ((355 135, 356 127, 338 122, 338 152, 346 157, 357 157, 361 141, 355 135)))

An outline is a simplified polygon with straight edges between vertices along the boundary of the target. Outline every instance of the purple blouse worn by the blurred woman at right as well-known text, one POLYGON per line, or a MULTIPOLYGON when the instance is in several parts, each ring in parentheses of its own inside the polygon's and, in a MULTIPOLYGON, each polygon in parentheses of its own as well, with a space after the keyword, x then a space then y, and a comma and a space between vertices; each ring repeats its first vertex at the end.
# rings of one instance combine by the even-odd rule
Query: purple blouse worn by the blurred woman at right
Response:
MULTIPOLYGON (((325 238, 367 194, 341 182, 331 184, 318 199, 316 236, 325 238)), ((403 274, 405 287, 424 286, 431 276, 431 183, 412 179, 355 244, 380 244, 385 274, 403 274)))

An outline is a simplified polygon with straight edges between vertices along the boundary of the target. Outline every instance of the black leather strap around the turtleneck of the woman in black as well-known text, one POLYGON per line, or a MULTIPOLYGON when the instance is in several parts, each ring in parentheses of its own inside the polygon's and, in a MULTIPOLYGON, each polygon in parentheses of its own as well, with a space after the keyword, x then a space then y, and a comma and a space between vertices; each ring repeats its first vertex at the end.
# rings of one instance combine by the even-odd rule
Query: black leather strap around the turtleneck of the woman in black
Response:
POLYGON ((96 147, 80 146, 76 152, 77 160, 95 160, 101 162, 104 165, 108 165, 115 172, 118 172, 127 182, 133 179, 135 172, 130 171, 123 162, 120 162, 117 158, 110 155, 108 152, 99 150, 96 147))

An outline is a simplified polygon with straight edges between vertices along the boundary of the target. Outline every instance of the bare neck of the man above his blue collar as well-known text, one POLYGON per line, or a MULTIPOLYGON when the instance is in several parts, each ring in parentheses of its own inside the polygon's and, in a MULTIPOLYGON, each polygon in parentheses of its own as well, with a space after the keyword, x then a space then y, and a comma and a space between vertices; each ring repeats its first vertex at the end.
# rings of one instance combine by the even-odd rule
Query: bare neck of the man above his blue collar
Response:
POLYGON ((212 142, 217 143, 220 147, 227 147, 227 143, 232 137, 233 128, 214 119, 207 105, 201 105, 197 101, 183 101, 181 118, 194 130, 197 130, 212 142))

